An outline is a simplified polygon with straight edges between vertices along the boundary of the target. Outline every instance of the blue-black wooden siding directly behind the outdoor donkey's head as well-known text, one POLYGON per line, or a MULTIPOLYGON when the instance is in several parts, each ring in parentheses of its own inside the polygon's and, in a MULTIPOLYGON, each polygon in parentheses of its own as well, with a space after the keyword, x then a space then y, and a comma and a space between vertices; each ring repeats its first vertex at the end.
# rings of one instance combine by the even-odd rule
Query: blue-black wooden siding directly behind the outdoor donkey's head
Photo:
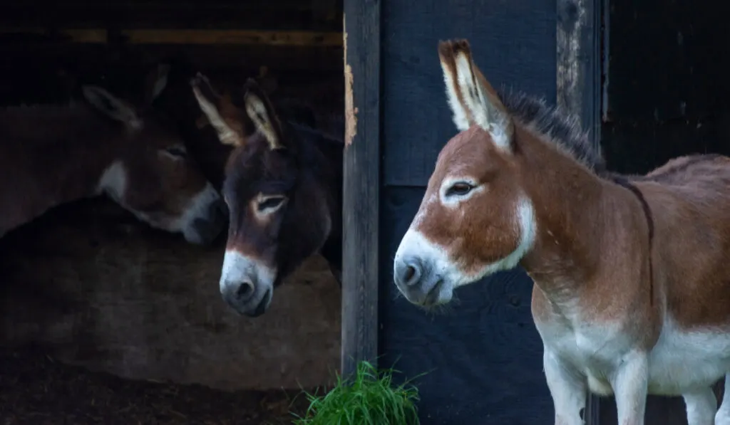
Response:
POLYGON ((398 295, 391 270, 439 149, 456 133, 437 42, 468 38, 493 84, 554 104, 556 1, 410 0, 382 7, 379 364, 395 364, 401 378, 427 373, 416 381, 424 425, 550 423, 553 402, 523 271, 461 288, 458 303, 431 314, 398 295))

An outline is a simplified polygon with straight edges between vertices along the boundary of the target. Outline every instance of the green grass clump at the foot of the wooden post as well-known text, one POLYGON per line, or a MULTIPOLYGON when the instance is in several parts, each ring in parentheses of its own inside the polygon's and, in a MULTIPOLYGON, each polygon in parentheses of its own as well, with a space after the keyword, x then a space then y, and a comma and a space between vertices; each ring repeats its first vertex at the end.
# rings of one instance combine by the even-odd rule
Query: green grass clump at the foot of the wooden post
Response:
POLYGON ((337 375, 327 394, 308 394, 310 406, 294 425, 418 425, 418 389, 410 381, 393 386, 395 370, 360 362, 353 379, 337 375))

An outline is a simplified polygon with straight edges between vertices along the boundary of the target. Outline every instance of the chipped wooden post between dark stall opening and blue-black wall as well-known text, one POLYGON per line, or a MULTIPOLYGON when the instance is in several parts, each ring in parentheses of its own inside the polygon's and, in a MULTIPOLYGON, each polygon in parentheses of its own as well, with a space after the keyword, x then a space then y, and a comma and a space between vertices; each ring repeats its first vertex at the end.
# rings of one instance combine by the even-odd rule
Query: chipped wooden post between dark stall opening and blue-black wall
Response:
POLYGON ((377 356, 380 0, 345 0, 342 374, 377 356))

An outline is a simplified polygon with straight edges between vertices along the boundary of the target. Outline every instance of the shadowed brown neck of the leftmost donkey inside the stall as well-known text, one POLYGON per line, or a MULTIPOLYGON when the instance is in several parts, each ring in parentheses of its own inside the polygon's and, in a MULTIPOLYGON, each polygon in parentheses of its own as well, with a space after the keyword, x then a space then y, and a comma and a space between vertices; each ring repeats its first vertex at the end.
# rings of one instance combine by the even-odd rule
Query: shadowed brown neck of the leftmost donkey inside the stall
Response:
POLYGON ((68 114, 50 108, 55 108, 50 116, 43 106, 25 115, 17 109, 0 112, 5 139, 0 200, 6 208, 0 235, 55 206, 102 192, 113 198, 123 190, 124 172, 116 161, 123 149, 114 129, 82 106, 69 106, 68 114), (20 119, 15 127, 6 122, 12 118, 20 119))

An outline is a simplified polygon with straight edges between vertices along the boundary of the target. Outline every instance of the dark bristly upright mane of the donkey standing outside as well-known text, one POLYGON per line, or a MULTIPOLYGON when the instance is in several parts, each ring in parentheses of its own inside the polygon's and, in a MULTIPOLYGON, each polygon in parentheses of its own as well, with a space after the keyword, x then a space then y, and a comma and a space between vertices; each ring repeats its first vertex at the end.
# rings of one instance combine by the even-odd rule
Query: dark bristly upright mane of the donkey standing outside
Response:
POLYGON ((607 172, 606 163, 598 144, 588 139, 576 117, 549 106, 536 98, 515 90, 499 90, 499 98, 521 124, 548 136, 563 152, 598 175, 607 172))

